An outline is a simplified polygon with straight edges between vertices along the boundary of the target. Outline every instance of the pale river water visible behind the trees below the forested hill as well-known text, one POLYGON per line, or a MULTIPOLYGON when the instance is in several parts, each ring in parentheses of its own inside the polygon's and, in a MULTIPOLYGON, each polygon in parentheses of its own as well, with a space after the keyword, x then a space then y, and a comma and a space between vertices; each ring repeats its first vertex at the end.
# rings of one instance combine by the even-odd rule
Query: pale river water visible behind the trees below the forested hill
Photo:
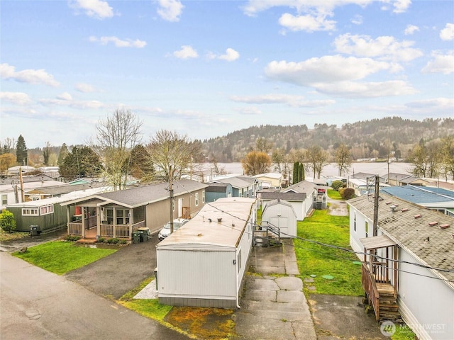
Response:
MULTIPOLYGON (((204 164, 204 169, 206 170, 211 169, 211 167, 212 164, 210 163, 204 164)), ((241 163, 218 163, 218 168, 223 169, 227 174, 243 174, 241 163)), ((350 169, 348 169, 348 171, 343 174, 343 177, 353 177, 354 174, 365 172, 366 174, 380 175, 384 178, 387 178, 388 171, 389 173, 411 175, 411 170, 413 168, 413 164, 403 162, 391 162, 389 163, 389 167, 388 163, 386 162, 358 162, 352 163, 350 169)), ((290 166, 290 169, 293 169, 293 166, 290 166)), ((339 169, 335 163, 330 163, 323 167, 321 175, 339 176, 339 169)), ((306 173, 306 177, 314 177, 314 174, 312 174, 311 172, 309 172, 309 174, 306 173)))

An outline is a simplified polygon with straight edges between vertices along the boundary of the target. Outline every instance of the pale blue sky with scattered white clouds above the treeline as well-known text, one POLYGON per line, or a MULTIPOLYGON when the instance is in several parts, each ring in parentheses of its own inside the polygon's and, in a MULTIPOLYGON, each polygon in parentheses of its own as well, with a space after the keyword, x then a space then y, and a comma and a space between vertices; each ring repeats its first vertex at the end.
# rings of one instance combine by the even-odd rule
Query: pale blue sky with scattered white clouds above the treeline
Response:
POLYGON ((454 117, 454 1, 1 1, 1 136, 454 117))

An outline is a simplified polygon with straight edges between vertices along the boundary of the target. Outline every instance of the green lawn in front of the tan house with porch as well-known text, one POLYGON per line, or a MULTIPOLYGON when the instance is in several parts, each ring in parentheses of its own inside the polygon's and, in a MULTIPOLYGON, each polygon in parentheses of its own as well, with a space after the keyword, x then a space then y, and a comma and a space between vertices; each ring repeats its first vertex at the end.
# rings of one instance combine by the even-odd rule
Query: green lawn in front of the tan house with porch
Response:
POLYGON ((115 251, 116 249, 75 246, 74 242, 53 241, 32 246, 23 254, 16 251, 13 256, 17 256, 46 271, 62 275, 68 271, 87 266, 87 264, 108 256, 115 251))

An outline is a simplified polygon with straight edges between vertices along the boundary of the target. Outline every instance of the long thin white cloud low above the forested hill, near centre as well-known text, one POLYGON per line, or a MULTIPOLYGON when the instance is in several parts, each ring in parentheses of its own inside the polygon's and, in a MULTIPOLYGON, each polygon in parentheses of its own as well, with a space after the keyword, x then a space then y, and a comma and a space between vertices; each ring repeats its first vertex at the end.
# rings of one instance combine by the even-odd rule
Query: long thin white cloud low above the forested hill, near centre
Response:
POLYGON ((304 96, 292 96, 288 94, 265 94, 262 96, 231 96, 232 101, 238 103, 252 103, 252 104, 287 104, 291 107, 319 107, 327 106, 336 101, 331 99, 320 101, 307 101, 304 96))

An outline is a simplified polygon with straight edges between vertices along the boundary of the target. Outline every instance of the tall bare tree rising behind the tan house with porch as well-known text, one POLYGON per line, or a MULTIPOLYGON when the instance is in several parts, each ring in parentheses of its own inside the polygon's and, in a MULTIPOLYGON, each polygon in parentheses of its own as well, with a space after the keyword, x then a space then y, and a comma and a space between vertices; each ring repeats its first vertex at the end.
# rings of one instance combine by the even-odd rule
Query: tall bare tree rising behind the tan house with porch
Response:
POLYGON ((140 143, 141 127, 142 122, 124 108, 117 108, 111 116, 96 124, 93 149, 101 157, 104 174, 114 190, 126 187, 131 150, 140 143))

